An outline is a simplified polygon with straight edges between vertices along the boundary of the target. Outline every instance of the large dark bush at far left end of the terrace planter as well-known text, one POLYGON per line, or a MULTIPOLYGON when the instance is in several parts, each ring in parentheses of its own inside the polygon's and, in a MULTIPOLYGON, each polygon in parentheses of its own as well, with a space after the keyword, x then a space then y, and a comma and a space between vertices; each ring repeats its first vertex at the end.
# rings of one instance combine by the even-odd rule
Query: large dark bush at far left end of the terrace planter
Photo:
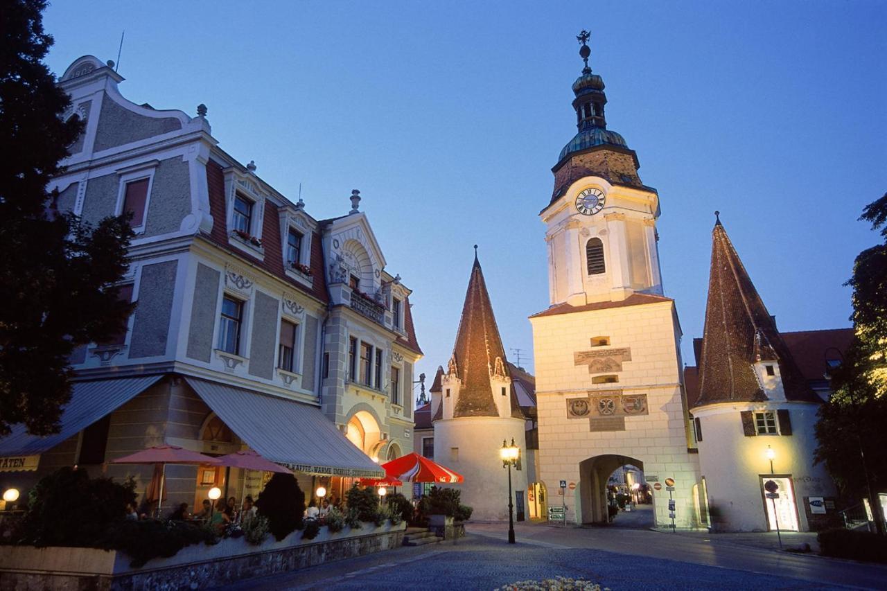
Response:
POLYGON ((62 468, 43 477, 28 495, 20 541, 43 546, 94 547, 106 529, 136 504, 136 483, 90 478, 85 470, 62 468))

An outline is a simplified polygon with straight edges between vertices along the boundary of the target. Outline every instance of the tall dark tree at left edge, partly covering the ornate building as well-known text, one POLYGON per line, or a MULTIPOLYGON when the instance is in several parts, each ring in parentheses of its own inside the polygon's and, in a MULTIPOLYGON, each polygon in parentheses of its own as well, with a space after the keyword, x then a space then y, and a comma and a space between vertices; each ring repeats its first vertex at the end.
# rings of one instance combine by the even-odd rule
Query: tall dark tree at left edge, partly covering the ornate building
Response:
POLYGON ((64 120, 70 98, 43 64, 53 43, 45 7, 12 0, 0 11, 0 437, 18 422, 37 435, 58 431, 67 359, 122 331, 133 307, 114 287, 128 267, 128 220, 90 227, 46 191, 83 125, 64 120))

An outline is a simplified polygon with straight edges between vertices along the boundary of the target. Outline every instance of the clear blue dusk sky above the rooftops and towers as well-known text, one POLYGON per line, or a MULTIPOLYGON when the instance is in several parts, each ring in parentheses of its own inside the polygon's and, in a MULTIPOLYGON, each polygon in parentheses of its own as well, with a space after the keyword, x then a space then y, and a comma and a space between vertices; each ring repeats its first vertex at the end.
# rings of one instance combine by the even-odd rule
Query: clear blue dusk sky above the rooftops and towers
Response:
POLYGON ((887 3, 57 2, 57 74, 117 59, 122 95, 195 114, 318 219, 351 189, 412 288, 428 383, 479 256, 509 359, 532 369, 549 305, 551 168, 576 133, 577 33, 608 129, 660 196, 665 294, 684 362, 701 336, 713 211, 781 331, 849 327, 843 286, 887 191, 887 3))

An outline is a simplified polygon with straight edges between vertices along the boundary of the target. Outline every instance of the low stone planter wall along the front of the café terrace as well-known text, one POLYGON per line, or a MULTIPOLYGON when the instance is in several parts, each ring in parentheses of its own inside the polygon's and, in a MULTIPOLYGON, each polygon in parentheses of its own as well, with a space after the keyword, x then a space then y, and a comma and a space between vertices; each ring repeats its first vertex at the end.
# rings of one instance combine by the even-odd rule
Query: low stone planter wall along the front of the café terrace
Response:
POLYGON ((397 548, 404 541, 405 528, 404 523, 389 521, 331 533, 324 526, 312 540, 302 540, 302 532, 295 531, 284 540, 269 537, 257 546, 244 538, 228 538, 213 546, 186 546, 176 556, 153 558, 141 567, 130 566, 130 557, 114 550, 4 546, 0 591, 214 587, 397 548))

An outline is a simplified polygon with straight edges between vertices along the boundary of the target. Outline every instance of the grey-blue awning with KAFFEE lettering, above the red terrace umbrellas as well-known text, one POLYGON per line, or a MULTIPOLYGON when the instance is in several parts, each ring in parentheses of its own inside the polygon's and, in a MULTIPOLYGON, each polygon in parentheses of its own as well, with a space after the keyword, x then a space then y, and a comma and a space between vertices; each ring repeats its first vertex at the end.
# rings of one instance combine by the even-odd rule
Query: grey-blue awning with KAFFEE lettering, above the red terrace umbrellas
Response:
POLYGON ((317 406, 188 377, 214 413, 266 460, 324 476, 384 477, 317 406))

